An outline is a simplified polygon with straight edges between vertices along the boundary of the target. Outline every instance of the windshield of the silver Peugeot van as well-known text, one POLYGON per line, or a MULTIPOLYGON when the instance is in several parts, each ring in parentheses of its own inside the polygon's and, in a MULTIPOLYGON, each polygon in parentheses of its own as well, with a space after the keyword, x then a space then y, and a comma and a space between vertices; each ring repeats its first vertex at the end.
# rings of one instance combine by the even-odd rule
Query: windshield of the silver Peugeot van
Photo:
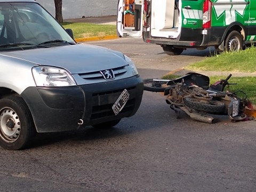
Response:
POLYGON ((37 3, 0 3, 0 51, 69 44, 73 38, 37 3))

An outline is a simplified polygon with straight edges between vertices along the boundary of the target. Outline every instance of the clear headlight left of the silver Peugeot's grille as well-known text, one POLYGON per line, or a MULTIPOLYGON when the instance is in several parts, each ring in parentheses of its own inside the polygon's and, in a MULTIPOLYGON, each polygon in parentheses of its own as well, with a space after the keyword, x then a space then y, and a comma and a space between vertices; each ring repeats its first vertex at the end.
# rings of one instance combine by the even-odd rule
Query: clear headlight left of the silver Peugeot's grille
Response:
POLYGON ((65 69, 57 67, 33 67, 36 86, 74 86, 74 78, 65 69))

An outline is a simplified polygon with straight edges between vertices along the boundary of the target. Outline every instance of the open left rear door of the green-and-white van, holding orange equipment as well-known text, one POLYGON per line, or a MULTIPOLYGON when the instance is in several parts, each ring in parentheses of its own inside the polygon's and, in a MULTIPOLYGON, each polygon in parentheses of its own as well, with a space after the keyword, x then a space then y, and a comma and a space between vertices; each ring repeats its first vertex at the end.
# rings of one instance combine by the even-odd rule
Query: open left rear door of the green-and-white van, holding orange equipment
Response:
POLYGON ((116 27, 119 37, 142 37, 144 1, 118 0, 116 27))

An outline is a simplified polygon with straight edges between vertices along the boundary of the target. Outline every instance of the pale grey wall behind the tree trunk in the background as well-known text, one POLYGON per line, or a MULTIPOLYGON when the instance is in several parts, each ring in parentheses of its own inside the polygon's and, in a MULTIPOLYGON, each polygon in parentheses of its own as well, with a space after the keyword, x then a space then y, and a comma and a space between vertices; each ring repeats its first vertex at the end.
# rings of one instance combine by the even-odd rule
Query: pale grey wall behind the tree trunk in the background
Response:
MULTIPOLYGON (((36 0, 55 17, 53 0, 36 0)), ((118 0, 62 0, 63 19, 115 15, 118 0)))

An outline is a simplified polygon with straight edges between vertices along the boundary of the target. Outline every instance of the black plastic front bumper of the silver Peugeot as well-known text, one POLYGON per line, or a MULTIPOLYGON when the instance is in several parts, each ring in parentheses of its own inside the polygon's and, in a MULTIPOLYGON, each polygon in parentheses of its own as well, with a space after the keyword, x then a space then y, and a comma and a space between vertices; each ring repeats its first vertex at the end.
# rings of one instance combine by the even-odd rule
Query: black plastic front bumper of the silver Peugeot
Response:
POLYGON ((138 76, 71 87, 28 87, 21 97, 33 116, 37 132, 59 132, 79 129, 134 115, 141 103, 143 82, 138 76), (129 94, 121 112, 112 106, 126 89, 129 94), (83 120, 83 124, 78 122, 83 120))

